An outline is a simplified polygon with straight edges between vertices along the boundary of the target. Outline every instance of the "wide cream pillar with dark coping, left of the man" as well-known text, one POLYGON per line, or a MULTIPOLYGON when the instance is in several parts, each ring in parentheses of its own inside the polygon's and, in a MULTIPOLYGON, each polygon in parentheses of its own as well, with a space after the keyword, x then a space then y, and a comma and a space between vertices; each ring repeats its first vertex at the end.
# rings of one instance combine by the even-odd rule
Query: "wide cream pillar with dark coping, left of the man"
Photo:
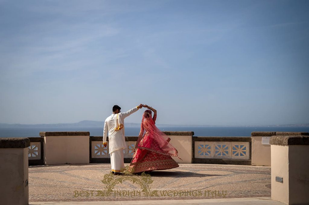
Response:
POLYGON ((40 132, 44 164, 89 163, 89 132, 40 132))

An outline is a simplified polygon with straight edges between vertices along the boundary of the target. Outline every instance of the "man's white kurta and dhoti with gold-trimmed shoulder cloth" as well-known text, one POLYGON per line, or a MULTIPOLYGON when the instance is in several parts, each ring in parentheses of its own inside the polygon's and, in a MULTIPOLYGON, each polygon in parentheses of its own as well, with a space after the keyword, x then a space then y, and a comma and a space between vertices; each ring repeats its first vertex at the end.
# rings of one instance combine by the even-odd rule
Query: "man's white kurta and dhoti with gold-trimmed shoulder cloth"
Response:
MULTIPOLYGON (((118 114, 118 118, 120 118, 121 122, 124 125, 125 118, 131 115, 132 113, 138 111, 138 109, 139 109, 138 107, 134 107, 127 112, 121 112, 118 114)), ((108 118, 105 119, 104 131, 103 131, 103 143, 106 142, 107 133, 108 133, 108 147, 109 147, 108 151, 111 154, 112 171, 120 170, 124 168, 123 149, 126 148, 125 128, 122 128, 121 130, 115 130, 115 118, 116 117, 117 117, 117 114, 112 114, 108 118)))

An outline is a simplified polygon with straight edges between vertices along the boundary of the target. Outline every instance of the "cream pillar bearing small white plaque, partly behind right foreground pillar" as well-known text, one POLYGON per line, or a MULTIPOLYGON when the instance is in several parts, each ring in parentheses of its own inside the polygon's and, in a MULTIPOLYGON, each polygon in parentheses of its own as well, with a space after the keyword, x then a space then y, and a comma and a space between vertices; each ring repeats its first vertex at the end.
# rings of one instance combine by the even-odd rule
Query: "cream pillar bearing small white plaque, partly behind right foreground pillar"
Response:
POLYGON ((271 152, 269 139, 271 136, 306 135, 308 132, 252 132, 252 165, 270 166, 271 152))

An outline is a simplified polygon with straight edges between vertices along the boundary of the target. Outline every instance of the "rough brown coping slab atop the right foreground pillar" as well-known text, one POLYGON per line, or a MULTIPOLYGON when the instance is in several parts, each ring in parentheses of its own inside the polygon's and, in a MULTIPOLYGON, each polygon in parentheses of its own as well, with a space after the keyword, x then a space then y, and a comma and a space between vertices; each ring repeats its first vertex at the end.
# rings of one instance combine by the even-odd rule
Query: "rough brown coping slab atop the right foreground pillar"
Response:
POLYGON ((272 136, 271 145, 309 145, 309 136, 272 136))

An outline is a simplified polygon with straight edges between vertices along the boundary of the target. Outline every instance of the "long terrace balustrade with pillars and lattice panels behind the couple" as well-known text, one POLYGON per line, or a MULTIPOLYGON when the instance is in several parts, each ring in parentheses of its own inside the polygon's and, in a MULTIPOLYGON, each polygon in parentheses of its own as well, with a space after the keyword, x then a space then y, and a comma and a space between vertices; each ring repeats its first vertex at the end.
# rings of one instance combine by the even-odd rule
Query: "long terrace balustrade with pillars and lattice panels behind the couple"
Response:
MULTIPOLYGON (((309 136, 308 132, 252 132, 252 137, 222 137, 222 136, 193 136, 194 132, 164 132, 171 138, 171 144, 176 147, 178 157, 173 157, 178 163, 209 163, 209 164, 239 164, 239 165, 260 165, 270 166, 271 153, 269 138, 271 136, 309 136)), ((86 147, 87 135, 89 132, 41 132, 43 137, 31 137, 29 147, 29 165, 77 163, 72 160, 76 158, 71 147, 78 148, 79 163, 88 163, 86 154, 89 156, 89 163, 109 163, 108 145, 105 148, 102 144, 102 136, 90 136, 89 146, 86 147), (47 134, 46 134, 47 133, 47 134), (86 134, 78 142, 77 135, 86 134), (45 135, 45 136, 44 136, 45 135), (47 136, 46 136, 47 135, 47 136), (63 136, 56 136, 63 135, 63 136), (57 140, 57 141, 55 141, 57 140), (78 142, 78 143, 77 143, 78 142), (49 146, 47 145, 49 144, 49 146), (57 145, 58 144, 58 145, 57 145), (61 144, 62 147, 57 148, 61 144), (71 144, 71 146, 69 145, 71 144), (75 145, 74 145, 75 144, 75 145), (78 144, 78 145, 77 145, 78 144), (82 146, 83 144, 83 146, 82 146), (49 148, 48 148, 49 147, 49 148), (55 154, 55 149, 60 151, 55 154), (62 156, 63 152, 65 157, 62 156), (61 154, 62 152, 62 154, 61 154), (54 155, 54 162, 49 161, 50 156, 44 157, 44 153, 54 155), (70 153, 71 156, 70 156, 70 153), (83 153, 83 157, 82 154, 83 153), (55 156, 57 155, 57 157, 55 156), (61 160, 56 160, 61 159, 61 160), (70 160, 64 160, 69 157, 70 160), (45 161, 44 161, 45 159, 45 161)), ((127 148, 124 149, 125 162, 132 159, 137 136, 126 136, 127 148)), ((108 138, 107 138, 108 141, 108 138)), ((88 144, 88 143, 87 143, 88 144)))

